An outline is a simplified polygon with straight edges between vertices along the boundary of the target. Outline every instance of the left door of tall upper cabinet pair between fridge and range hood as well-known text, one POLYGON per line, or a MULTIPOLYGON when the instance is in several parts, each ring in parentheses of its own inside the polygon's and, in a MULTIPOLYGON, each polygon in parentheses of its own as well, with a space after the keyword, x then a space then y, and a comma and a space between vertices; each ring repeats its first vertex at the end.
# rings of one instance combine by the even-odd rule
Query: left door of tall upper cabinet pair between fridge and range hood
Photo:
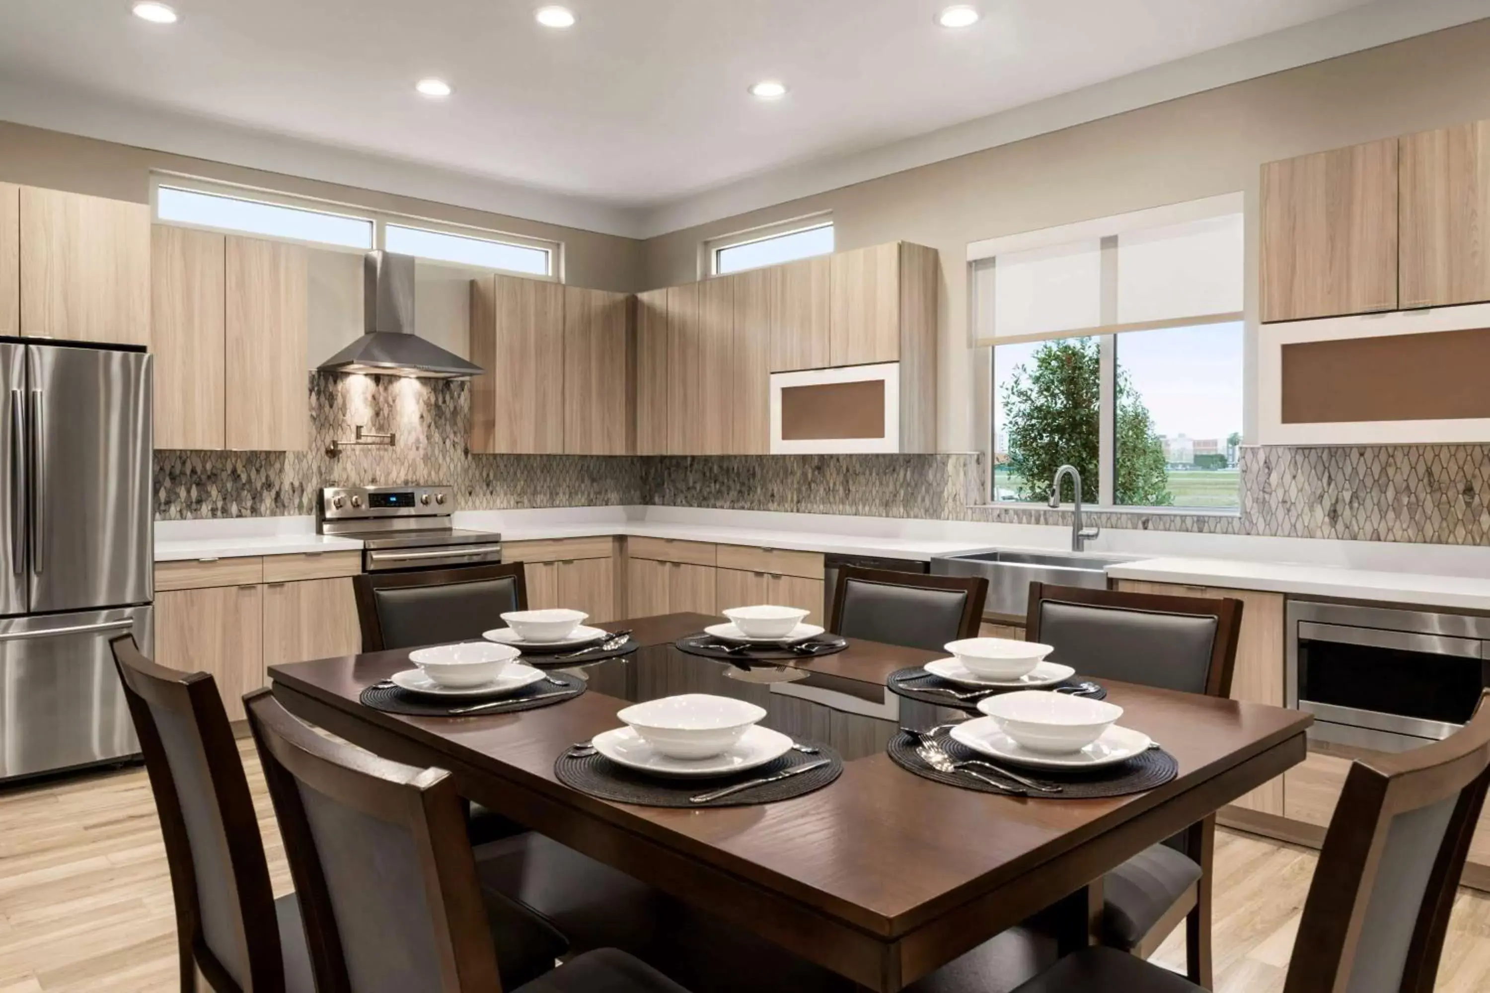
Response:
POLYGON ((155 225, 150 231, 150 350, 155 447, 225 448, 226 238, 155 225))

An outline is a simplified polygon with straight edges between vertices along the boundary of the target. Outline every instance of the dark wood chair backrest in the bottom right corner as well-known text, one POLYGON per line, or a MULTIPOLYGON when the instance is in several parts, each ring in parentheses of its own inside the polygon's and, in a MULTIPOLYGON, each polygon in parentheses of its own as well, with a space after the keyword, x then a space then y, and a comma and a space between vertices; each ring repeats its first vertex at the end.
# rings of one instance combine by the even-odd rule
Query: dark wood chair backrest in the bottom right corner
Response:
POLYGON ((1354 762, 1284 993, 1429 993, 1490 783, 1490 691, 1444 741, 1354 762))

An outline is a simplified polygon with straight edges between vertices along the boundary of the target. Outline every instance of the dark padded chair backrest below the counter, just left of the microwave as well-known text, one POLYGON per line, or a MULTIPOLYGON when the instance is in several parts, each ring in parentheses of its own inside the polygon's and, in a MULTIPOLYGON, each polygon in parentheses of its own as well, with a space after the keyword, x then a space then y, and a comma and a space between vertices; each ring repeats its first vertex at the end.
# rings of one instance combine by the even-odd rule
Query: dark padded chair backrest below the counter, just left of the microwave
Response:
POLYGON ((1030 584, 1025 637, 1082 676, 1231 695, 1241 600, 1030 584))

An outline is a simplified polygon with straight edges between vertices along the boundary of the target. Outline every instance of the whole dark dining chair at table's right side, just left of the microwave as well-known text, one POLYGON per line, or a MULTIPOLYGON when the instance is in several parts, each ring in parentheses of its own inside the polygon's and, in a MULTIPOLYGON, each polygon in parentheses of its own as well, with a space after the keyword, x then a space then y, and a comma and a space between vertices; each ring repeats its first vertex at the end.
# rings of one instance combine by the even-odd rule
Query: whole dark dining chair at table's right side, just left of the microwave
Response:
MULTIPOLYGON (((1030 584, 1025 637, 1082 676, 1231 695, 1243 604, 1030 584)), ((1128 859, 1103 878, 1101 941, 1149 957, 1185 922, 1186 975, 1211 986, 1216 817, 1128 859)))

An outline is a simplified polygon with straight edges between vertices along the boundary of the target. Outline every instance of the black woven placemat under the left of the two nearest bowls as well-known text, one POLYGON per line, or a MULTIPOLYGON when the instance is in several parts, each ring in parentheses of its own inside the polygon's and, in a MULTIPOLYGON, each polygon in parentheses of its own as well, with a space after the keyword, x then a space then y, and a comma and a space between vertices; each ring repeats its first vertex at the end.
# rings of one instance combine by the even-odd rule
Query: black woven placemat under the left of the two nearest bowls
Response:
POLYGON ((572 752, 565 752, 554 761, 554 777, 565 786, 578 789, 581 794, 599 796, 600 799, 614 799, 621 804, 690 807, 694 810, 703 807, 752 807, 755 804, 773 804, 778 799, 805 796, 812 791, 822 789, 843 771, 843 756, 828 746, 814 741, 802 741, 800 744, 817 749, 817 755, 806 755, 791 749, 779 759, 757 765, 752 770, 709 779, 662 779, 617 765, 603 755, 577 756, 572 752), (688 801, 690 796, 697 796, 712 789, 723 789, 735 783, 773 776, 794 765, 808 765, 821 759, 828 759, 828 764, 811 773, 742 789, 738 794, 730 794, 729 796, 721 796, 705 804, 688 801))

